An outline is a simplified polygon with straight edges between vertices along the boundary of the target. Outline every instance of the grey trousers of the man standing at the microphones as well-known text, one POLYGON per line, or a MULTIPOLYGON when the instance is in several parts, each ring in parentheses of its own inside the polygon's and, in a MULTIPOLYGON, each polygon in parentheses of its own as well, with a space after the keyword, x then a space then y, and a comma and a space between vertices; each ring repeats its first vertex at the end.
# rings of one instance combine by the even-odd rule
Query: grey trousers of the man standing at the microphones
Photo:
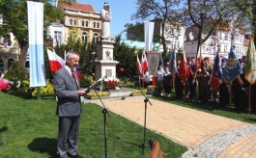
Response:
POLYGON ((59 117, 59 135, 58 135, 58 151, 61 157, 76 155, 77 137, 79 131, 79 118, 77 117, 59 117))

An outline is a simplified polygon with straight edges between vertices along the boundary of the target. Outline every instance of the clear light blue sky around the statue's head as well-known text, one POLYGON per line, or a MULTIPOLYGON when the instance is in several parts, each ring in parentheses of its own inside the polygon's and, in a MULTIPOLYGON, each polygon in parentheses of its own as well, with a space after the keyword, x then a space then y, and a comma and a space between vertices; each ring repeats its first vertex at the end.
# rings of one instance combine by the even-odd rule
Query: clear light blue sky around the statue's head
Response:
MULTIPOLYGON (((111 37, 115 37, 124 31, 127 23, 135 24, 135 20, 131 20, 130 16, 136 11, 136 0, 76 0, 76 3, 91 4, 97 13, 102 10, 104 2, 108 2, 112 12, 112 20, 110 21, 111 37)), ((126 39, 126 33, 122 35, 122 39, 126 39)))

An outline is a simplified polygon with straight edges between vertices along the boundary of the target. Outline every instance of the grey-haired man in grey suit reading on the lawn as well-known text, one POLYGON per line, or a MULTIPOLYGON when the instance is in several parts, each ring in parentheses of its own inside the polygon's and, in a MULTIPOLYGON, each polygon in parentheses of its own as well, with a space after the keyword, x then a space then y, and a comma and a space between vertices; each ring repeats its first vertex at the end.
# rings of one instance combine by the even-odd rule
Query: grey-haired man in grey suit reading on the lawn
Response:
POLYGON ((86 90, 80 90, 76 66, 79 64, 79 54, 68 52, 66 66, 60 68, 53 79, 54 92, 58 98, 56 114, 59 116, 58 152, 60 157, 82 157, 77 154, 77 137, 79 118, 82 112, 80 96, 86 90))

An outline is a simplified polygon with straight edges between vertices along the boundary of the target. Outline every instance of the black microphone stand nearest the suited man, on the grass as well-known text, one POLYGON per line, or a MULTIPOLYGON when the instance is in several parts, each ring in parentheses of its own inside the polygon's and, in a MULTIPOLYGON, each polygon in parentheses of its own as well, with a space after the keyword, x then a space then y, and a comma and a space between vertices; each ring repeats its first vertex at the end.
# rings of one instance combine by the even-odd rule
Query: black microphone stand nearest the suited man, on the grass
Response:
MULTIPOLYGON (((89 80, 89 78, 86 76, 86 74, 85 74, 85 77, 89 81, 89 84, 92 85, 90 80, 89 80)), ((108 116, 110 118, 111 118, 111 116, 110 116, 108 110, 106 109, 103 101, 101 100, 99 93, 95 90, 95 87, 91 86, 89 89, 93 89, 94 90, 94 92, 96 93, 98 99, 100 100, 100 102, 101 102, 101 104, 103 106, 102 114, 103 114, 103 118, 104 118, 104 149, 105 149, 105 158, 106 158, 107 157, 107 147, 106 147, 106 113, 108 114, 108 116)))

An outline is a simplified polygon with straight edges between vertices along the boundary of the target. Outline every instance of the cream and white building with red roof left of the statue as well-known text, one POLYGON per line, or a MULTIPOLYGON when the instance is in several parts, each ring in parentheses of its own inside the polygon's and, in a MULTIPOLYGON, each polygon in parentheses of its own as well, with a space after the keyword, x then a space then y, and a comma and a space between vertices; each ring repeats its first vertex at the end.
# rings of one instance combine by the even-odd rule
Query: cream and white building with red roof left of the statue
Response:
POLYGON ((48 33, 53 40, 53 46, 66 43, 69 38, 82 40, 85 43, 98 42, 101 34, 100 13, 89 4, 59 4, 64 11, 61 22, 52 23, 48 33))

